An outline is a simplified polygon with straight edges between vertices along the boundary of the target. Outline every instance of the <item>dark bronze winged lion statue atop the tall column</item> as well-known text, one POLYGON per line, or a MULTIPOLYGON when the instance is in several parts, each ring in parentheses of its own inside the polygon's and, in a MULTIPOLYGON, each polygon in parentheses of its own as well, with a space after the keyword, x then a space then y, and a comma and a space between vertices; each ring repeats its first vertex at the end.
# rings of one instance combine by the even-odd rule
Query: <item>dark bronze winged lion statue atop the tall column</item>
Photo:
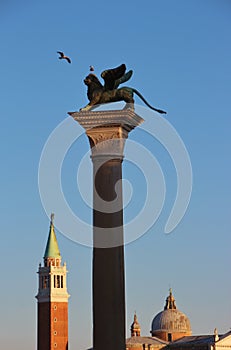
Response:
POLYGON ((100 83, 95 74, 89 74, 84 79, 84 83, 88 87, 87 97, 90 102, 85 107, 81 108, 80 111, 89 111, 102 103, 116 101, 125 101, 125 108, 134 108, 135 101, 133 95, 135 93, 149 108, 158 113, 166 114, 165 111, 152 107, 138 90, 127 86, 118 89, 120 84, 128 81, 131 78, 132 73, 132 70, 126 73, 125 64, 121 64, 113 69, 104 70, 101 73, 101 77, 104 80, 104 85, 100 83))

